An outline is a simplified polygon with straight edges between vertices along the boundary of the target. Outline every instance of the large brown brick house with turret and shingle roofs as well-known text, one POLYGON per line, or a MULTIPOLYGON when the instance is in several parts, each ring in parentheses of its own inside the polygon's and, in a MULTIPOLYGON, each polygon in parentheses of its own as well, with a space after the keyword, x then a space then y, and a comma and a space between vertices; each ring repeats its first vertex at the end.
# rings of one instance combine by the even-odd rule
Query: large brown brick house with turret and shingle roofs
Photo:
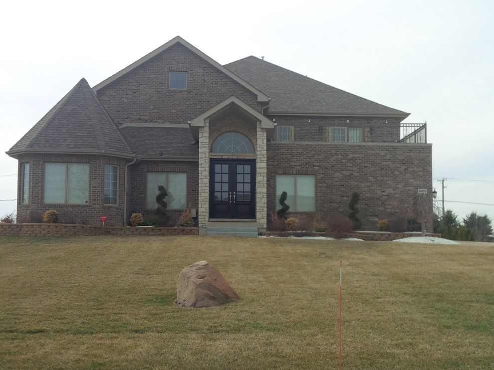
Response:
POLYGON ((164 185, 170 223, 191 204, 202 233, 217 219, 265 230, 282 191, 290 214, 325 219, 359 191, 376 229, 432 189, 426 125, 408 116, 253 56, 221 65, 177 36, 92 88, 81 79, 6 152, 17 221, 53 208, 122 225, 164 185))

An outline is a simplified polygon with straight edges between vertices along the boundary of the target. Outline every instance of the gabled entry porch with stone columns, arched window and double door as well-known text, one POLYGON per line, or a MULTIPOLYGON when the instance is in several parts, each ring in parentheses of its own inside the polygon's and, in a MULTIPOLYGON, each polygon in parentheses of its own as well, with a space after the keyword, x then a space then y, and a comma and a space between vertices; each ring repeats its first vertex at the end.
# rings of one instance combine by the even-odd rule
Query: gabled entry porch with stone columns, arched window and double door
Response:
MULTIPOLYGON (((199 143, 201 234, 212 222, 266 229, 266 141, 274 124, 231 96, 190 122, 199 143)), ((222 225, 225 226, 225 225, 222 225)), ((227 225, 228 226, 228 225, 227 225)))

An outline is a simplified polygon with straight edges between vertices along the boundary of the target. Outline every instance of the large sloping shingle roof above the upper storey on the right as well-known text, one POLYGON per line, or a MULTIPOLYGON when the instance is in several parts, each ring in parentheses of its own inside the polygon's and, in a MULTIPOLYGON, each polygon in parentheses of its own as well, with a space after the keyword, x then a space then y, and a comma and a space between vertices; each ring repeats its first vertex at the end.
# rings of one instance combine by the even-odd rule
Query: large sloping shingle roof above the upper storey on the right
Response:
POLYGON ((316 113, 399 117, 409 115, 409 113, 350 94, 255 56, 248 56, 226 64, 225 67, 271 98, 269 114, 316 113))

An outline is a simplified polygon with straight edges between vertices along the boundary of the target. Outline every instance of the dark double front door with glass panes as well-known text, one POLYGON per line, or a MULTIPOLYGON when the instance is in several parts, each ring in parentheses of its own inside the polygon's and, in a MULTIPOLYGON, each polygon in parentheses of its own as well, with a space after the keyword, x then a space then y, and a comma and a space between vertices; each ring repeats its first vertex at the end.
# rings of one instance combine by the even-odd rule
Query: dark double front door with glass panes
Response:
POLYGON ((210 161, 210 218, 255 218, 255 161, 210 161))

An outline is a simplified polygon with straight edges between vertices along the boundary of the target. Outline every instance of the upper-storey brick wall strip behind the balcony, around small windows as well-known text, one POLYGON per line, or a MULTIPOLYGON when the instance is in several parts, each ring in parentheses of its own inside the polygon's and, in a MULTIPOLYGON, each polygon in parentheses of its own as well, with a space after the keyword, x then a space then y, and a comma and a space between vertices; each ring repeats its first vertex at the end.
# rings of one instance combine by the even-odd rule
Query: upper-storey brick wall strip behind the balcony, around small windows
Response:
POLYGON ((365 142, 395 143, 400 139, 399 119, 275 115, 268 117, 274 119, 279 126, 293 126, 294 141, 328 141, 329 127, 362 128, 362 141, 365 142))

